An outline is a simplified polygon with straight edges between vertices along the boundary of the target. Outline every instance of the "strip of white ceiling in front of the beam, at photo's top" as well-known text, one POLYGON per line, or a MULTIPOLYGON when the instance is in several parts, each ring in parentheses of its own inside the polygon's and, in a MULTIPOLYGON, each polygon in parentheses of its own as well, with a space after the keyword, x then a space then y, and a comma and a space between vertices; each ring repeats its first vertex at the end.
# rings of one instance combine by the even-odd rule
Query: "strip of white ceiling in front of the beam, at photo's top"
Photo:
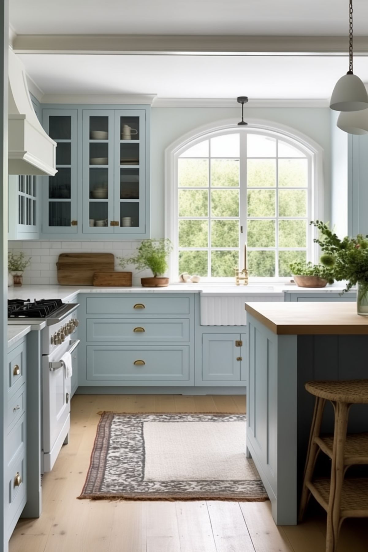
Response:
MULTIPOLYGON (((10 0, 18 34, 346 35, 348 0, 10 0)), ((368 2, 354 0, 367 35, 368 2)))

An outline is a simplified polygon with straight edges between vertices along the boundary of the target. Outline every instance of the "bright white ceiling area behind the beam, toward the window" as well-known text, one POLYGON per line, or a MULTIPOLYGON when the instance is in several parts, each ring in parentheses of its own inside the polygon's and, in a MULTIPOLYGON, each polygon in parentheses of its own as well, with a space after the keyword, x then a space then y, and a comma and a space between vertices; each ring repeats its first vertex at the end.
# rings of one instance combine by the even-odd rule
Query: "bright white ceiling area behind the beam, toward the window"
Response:
MULTIPOLYGON (((44 94, 157 94, 161 98, 329 98, 346 57, 24 54, 44 94)), ((368 60, 354 72, 368 82, 368 60)), ((250 105, 250 104, 249 104, 250 105)))

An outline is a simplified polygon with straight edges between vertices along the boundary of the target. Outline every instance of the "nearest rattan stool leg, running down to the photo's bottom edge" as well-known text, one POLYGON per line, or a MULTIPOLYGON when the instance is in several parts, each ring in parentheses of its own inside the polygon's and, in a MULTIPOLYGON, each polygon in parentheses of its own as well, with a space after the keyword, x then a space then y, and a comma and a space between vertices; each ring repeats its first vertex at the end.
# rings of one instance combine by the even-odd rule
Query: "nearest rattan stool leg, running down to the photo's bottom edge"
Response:
POLYGON ((335 429, 331 465, 330 495, 327 511, 326 552, 336 552, 340 530, 341 495, 344 482, 344 449, 350 405, 346 402, 333 402, 335 429))

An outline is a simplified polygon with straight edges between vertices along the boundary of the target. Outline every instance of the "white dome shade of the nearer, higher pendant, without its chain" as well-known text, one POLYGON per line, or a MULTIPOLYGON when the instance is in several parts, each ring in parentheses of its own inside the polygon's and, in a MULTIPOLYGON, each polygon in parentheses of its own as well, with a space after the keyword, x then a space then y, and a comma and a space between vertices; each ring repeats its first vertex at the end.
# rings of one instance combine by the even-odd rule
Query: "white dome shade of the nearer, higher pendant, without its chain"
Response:
POLYGON ((343 112, 368 108, 368 94, 359 77, 348 73, 337 81, 332 92, 330 108, 343 112))

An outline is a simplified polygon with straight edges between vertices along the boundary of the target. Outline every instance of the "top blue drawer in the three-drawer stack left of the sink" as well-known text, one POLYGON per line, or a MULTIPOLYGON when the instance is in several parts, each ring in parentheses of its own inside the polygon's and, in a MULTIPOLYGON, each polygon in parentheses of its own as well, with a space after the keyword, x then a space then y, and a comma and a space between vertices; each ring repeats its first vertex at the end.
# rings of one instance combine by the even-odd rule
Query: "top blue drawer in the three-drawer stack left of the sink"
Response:
POLYGON ((188 297, 88 297, 87 314, 189 314, 188 297))

